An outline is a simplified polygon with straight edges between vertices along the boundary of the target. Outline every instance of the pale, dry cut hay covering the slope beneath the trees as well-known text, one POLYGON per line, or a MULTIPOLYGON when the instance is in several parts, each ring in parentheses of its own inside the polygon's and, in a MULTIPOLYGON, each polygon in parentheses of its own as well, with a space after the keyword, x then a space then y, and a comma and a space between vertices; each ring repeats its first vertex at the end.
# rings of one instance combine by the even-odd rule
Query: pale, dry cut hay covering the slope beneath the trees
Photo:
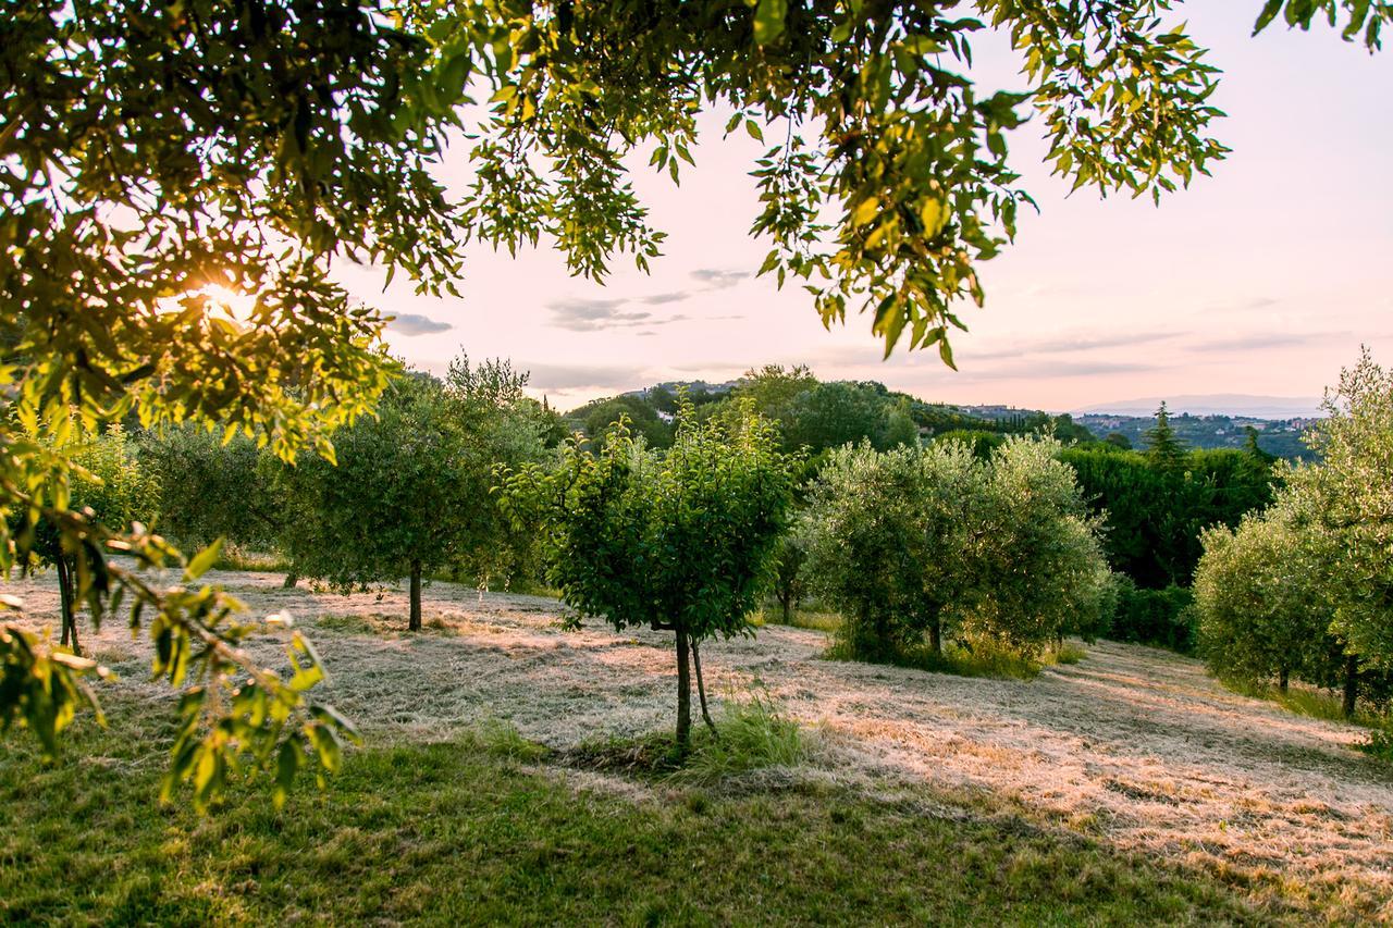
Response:
MULTIPOLYGON (((563 631, 550 599, 435 584, 426 631, 408 635, 400 591, 281 589, 280 575, 254 573, 210 580, 259 613, 288 610, 330 669, 329 698, 369 738, 443 740, 493 719, 566 750, 671 725, 667 640, 593 621, 563 631)), ((31 621, 53 621, 52 575, 11 589, 31 621)), ((139 677, 131 662, 143 645, 118 623, 85 644, 139 677)), ((266 660, 279 647, 254 645, 266 660)), ((793 775, 875 791, 917 782, 989 790, 1148 856, 1387 900, 1375 906, 1393 920, 1393 775, 1351 748, 1358 729, 1236 695, 1195 660, 1133 645, 1099 642, 1032 681, 829 662, 823 647, 820 633, 766 627, 702 651, 717 702, 763 687, 823 733, 818 768, 793 775)))

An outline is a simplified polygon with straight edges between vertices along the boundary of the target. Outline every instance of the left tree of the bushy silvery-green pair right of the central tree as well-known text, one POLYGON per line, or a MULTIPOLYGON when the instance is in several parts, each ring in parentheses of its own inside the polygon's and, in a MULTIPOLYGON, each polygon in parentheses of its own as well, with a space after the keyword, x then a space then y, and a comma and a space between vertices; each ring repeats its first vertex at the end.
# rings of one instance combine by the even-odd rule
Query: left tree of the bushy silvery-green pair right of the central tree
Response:
POLYGON ((804 517, 812 588, 843 613, 851 656, 901 660, 972 608, 985 475, 956 442, 832 451, 804 517))

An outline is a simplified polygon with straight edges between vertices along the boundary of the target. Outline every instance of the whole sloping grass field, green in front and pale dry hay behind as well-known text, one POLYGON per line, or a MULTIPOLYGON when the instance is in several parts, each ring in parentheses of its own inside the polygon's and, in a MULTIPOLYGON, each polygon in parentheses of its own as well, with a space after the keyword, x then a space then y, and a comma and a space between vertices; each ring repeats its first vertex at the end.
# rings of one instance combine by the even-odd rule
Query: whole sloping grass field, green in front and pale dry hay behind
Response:
MULTIPOLYGON (((963 679, 825 660, 822 633, 770 626, 703 665, 717 712, 769 699, 802 747, 690 775, 644 750, 671 722, 657 635, 564 633, 554 602, 436 584, 412 637, 398 592, 215 578, 299 617, 366 745, 279 812, 256 784, 210 817, 160 807, 169 695, 109 626, 89 641, 125 679, 111 729, 79 723, 54 768, 25 733, 0 741, 0 918, 1393 918, 1393 778, 1350 747, 1362 733, 1174 655, 1103 644, 1031 681, 963 679)), ((39 620, 56 606, 42 577, 22 592, 39 620)))

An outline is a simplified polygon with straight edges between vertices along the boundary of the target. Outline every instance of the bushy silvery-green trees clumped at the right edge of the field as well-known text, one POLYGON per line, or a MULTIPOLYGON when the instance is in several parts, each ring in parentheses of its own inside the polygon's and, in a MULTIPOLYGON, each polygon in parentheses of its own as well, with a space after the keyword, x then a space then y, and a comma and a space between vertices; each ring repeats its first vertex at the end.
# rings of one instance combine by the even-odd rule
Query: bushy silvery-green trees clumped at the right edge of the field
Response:
POLYGON ((1211 666, 1244 684, 1293 679, 1358 701, 1393 695, 1393 375, 1368 351, 1340 375, 1277 499, 1204 535, 1195 603, 1211 666))

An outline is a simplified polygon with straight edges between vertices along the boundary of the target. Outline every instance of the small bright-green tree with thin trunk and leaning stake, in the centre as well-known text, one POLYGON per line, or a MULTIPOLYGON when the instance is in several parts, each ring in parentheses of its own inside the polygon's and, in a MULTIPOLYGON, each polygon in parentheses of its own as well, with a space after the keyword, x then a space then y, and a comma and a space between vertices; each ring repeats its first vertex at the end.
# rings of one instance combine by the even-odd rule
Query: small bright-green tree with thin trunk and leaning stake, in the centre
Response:
POLYGON ((685 752, 692 667, 710 725, 701 642, 752 634, 748 616, 773 580, 793 504, 773 426, 748 407, 734 422, 696 422, 684 403, 671 449, 648 447, 621 422, 596 451, 567 444, 556 471, 514 471, 504 495, 515 518, 542 527, 547 575, 577 620, 673 633, 685 752))

